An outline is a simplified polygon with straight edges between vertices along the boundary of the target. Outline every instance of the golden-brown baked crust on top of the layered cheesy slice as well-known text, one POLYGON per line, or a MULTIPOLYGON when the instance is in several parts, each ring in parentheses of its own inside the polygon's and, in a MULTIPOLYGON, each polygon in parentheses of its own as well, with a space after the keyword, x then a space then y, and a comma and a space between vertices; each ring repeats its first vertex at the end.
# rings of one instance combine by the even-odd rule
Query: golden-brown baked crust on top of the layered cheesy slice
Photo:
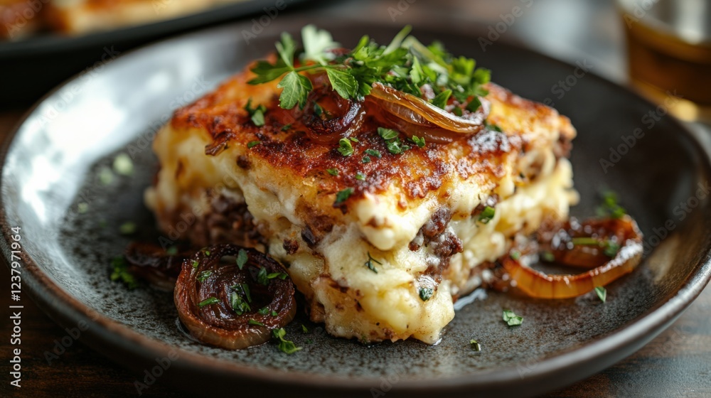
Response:
MULTIPOLYGON (((206 131, 211 139, 205 148, 208 156, 220 156, 226 147, 242 146, 244 151, 240 152, 245 155, 237 159, 241 166, 267 163, 289 178, 316 181, 319 193, 353 188, 350 200, 364 193, 383 192, 392 184, 405 195, 401 200, 410 200, 440 190, 452 178, 477 178, 476 182, 482 185, 496 183, 518 154, 534 146, 553 146, 559 138, 567 142, 574 136, 570 121, 555 109, 490 84, 486 97, 491 102, 488 122, 503 132, 483 129, 476 134, 462 134, 447 144, 427 141, 424 148, 407 142, 412 149, 391 154, 377 131, 378 127, 387 126, 371 114, 380 111, 367 107, 362 127, 352 135, 358 139, 351 142, 353 154, 343 156, 338 152, 337 139, 324 143, 310 138, 298 107, 279 107, 280 89, 276 82, 247 84, 252 77, 248 70, 240 72, 217 90, 178 109, 171 121, 172 129, 176 134, 189 129, 206 131), (262 127, 255 126, 245 109, 250 99, 252 107, 264 104, 267 108, 262 127), (255 145, 255 141, 259 143, 255 145), (368 155, 366 150, 379 151, 381 157, 368 155), (366 156, 370 158, 367 163, 366 156), (338 169, 338 176, 328 173, 333 168, 338 169), (359 173, 364 179, 357 178, 359 173)), ((406 139, 404 135, 400 138, 406 139)), ((445 191, 439 195, 447 195, 445 191)))

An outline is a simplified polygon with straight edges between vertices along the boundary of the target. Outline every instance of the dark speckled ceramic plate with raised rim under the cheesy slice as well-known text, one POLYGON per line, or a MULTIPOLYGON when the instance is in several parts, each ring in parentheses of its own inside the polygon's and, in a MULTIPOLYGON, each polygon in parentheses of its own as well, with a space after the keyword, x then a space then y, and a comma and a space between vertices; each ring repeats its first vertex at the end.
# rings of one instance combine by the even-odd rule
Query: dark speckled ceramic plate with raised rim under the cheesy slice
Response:
MULTIPOLYGON (((573 65, 504 43, 482 53, 471 33, 416 29, 425 42, 439 39, 453 53, 476 58, 514 92, 551 98, 572 119, 579 131, 572 163, 582 195, 574 213, 592 214, 603 186, 616 190, 646 234, 641 267, 608 286, 606 303, 592 294, 542 301, 477 291, 471 303, 459 303, 436 346, 405 341, 365 347, 331 338, 304 318, 287 328, 304 348, 294 355, 272 343, 241 351, 196 343, 176 326, 172 294, 147 286, 129 291, 109 281, 109 262, 128 242, 118 232, 123 222, 141 226, 139 239, 156 239, 142 202, 156 171, 149 149, 154 129, 178 104, 271 50, 280 31, 301 25, 293 18, 277 22, 249 45, 240 34, 247 26, 235 25, 124 55, 91 80, 72 80, 48 95, 18 127, 2 169, 5 240, 10 227, 21 227, 23 286, 63 326, 87 322, 83 342, 138 370, 169 358, 161 382, 210 394, 264 387, 262 395, 282 397, 533 395, 633 353, 678 317, 710 278, 711 167, 680 124, 650 116, 658 109, 624 88, 592 74, 575 77, 573 65), (573 78, 564 97, 552 94, 553 85, 573 78), (102 169, 119 152, 134 156, 134 176, 106 181, 102 169), (607 167, 601 159, 610 162, 607 167), (87 203, 88 211, 78 212, 77 203, 87 203), (502 308, 522 315, 523 326, 508 328, 502 308), (301 333, 302 323, 311 333, 301 333), (479 340, 481 353, 469 348, 471 338, 479 340)), ((397 31, 317 22, 345 45, 364 33, 387 41, 397 31)))

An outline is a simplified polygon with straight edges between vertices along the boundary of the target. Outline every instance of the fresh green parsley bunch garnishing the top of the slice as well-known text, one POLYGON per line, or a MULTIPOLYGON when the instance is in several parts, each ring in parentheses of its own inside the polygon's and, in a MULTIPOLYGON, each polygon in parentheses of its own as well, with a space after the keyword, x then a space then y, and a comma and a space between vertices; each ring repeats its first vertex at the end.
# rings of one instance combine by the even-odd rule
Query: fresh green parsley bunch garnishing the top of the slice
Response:
POLYGON ((441 43, 420 43, 410 31, 411 27, 405 26, 388 45, 363 36, 353 50, 340 54, 333 51, 341 45, 333 41, 331 33, 307 25, 301 30, 303 49, 297 50, 294 38, 282 33, 276 43, 276 62, 258 61, 252 68, 257 76, 249 82, 257 85, 280 78, 279 106, 284 109, 306 105, 314 88, 309 77, 300 73, 306 71, 326 72, 333 90, 346 99, 363 99, 373 83, 380 82, 417 97, 422 97, 420 87, 429 85, 435 92, 432 104, 442 108, 450 97, 462 104, 479 104, 476 97, 487 94, 481 86, 489 81, 491 72, 476 68, 471 58, 447 53, 441 43))

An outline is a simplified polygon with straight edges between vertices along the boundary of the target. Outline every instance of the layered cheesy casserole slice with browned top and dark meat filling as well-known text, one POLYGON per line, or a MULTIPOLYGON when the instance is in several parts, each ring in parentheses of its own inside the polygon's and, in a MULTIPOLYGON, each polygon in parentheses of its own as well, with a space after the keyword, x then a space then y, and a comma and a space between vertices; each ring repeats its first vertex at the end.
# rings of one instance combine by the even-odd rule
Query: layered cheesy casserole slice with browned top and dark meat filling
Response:
POLYGON ((567 219, 577 200, 570 120, 492 83, 474 134, 407 139, 370 107, 344 142, 315 139, 321 124, 306 115, 317 107, 328 122, 333 104, 283 109, 277 82, 253 77, 240 72, 159 131, 146 203, 173 240, 269 253, 332 335, 436 343, 456 298, 491 278, 515 237, 567 219))

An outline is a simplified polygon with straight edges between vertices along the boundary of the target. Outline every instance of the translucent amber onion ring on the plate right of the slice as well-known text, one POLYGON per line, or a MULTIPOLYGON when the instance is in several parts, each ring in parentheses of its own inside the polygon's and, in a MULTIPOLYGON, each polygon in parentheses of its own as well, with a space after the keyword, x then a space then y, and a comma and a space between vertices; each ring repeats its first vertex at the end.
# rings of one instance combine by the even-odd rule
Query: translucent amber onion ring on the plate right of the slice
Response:
POLYGON ((526 267, 518 260, 506 256, 503 268, 516 282, 518 289, 536 298, 571 298, 586 294, 597 286, 604 286, 620 276, 629 274, 642 259, 642 234, 636 222, 625 215, 618 220, 606 220, 615 233, 626 240, 609 262, 577 275, 547 275, 526 267))

